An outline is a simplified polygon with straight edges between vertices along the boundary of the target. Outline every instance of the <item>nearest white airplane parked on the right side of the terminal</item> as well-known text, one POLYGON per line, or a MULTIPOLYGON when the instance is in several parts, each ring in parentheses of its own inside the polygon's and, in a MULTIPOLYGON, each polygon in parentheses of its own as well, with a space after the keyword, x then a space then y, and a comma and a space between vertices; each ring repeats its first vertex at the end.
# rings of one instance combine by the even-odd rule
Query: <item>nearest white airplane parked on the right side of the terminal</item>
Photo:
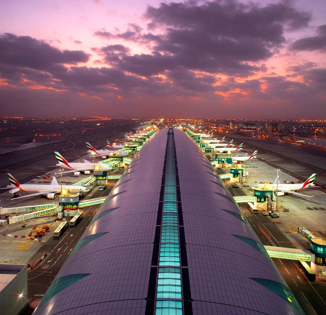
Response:
POLYGON ((266 188, 266 189, 274 191, 275 193, 277 193, 278 196, 284 196, 286 193, 287 194, 291 193, 291 194, 311 198, 311 197, 314 197, 314 196, 308 196, 308 195, 299 193, 297 191, 302 190, 304 188, 318 188, 318 186, 316 186, 314 184, 315 178, 316 178, 316 174, 312 174, 304 183, 300 183, 300 184, 281 184, 280 181, 279 181, 279 178, 276 177, 273 184, 257 184, 257 185, 254 185, 251 188, 252 189, 266 188))

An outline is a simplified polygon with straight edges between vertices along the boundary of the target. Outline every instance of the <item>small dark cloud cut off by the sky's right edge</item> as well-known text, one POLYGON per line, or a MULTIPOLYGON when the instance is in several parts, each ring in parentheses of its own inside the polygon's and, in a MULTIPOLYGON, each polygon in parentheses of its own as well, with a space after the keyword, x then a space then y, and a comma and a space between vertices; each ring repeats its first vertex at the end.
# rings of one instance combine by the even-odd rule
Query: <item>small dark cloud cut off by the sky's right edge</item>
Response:
POLYGON ((326 25, 317 28, 317 35, 296 40, 290 48, 292 50, 326 50, 326 25))

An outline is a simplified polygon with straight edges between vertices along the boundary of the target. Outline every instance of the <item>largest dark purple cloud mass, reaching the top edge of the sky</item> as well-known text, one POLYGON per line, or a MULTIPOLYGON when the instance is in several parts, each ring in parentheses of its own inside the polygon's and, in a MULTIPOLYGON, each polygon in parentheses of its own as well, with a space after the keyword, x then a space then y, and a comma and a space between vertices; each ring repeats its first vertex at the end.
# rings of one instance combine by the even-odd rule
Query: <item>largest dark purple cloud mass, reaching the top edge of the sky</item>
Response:
POLYGON ((288 1, 267 5, 245 5, 236 1, 213 1, 202 5, 161 3, 148 7, 149 27, 165 29, 163 34, 140 35, 135 28, 107 38, 155 41, 151 54, 106 57, 125 71, 150 76, 179 66, 225 75, 248 76, 263 69, 260 61, 281 47, 284 30, 307 25, 310 14, 293 8, 288 1), (253 64, 254 63, 254 64, 253 64))

